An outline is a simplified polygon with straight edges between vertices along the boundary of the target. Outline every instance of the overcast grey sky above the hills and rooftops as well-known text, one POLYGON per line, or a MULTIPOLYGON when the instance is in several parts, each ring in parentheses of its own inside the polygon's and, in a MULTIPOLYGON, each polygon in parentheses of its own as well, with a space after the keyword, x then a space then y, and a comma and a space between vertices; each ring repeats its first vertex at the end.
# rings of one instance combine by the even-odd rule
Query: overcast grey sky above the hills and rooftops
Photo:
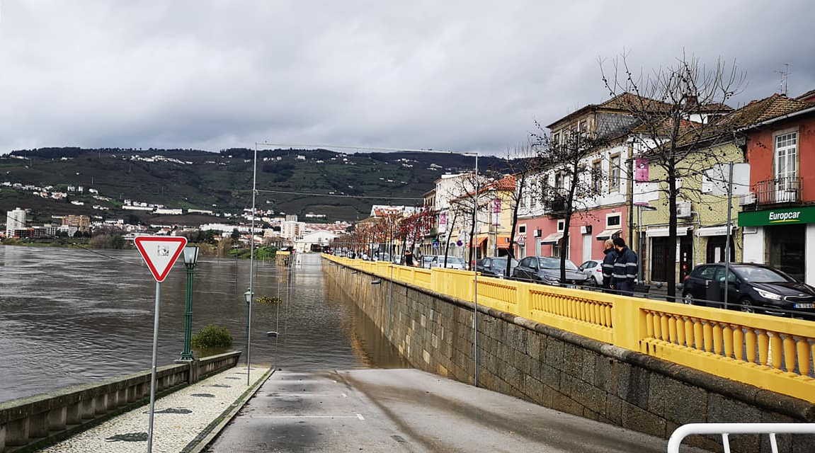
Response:
MULTIPOLYGON (((815 88, 809 2, 0 0, 0 152, 347 143, 502 153, 608 97, 598 58, 815 88), (661 4, 662 6, 658 6, 661 4), (667 6, 667 5, 670 6, 667 6)), ((734 105, 737 107, 737 105, 734 105)))

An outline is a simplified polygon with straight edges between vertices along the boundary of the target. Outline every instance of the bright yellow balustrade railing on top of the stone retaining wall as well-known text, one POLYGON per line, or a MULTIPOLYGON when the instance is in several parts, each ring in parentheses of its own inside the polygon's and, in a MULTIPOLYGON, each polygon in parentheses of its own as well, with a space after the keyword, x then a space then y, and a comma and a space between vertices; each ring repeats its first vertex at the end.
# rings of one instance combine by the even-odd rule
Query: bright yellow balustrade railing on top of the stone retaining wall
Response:
POLYGON ((815 322, 324 255, 386 279, 516 314, 815 402, 815 322), (474 281, 478 282, 476 291, 474 281))

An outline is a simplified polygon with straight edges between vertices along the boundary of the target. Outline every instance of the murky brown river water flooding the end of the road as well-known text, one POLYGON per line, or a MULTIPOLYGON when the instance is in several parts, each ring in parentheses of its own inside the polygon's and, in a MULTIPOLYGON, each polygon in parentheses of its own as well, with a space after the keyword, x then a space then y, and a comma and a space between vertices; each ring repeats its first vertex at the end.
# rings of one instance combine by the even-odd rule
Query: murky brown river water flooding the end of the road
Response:
MULTIPOLYGON (((308 371, 406 366, 324 282, 320 266, 319 255, 290 269, 257 263, 256 297, 283 303, 253 306, 252 362, 308 371)), ((183 350, 185 282, 178 262, 161 285, 160 365, 183 350)), ((201 258, 193 287, 193 332, 222 325, 233 349, 245 351, 249 261, 201 258)), ((0 246, 0 402, 149 369, 154 291, 135 250, 0 246)))

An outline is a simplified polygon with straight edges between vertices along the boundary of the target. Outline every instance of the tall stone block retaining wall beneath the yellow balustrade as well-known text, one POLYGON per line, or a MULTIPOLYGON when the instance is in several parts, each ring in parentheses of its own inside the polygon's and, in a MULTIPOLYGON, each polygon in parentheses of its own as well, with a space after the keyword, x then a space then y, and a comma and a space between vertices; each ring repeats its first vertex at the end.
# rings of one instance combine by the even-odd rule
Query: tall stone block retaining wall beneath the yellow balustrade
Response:
MULTIPOLYGON (((667 438, 694 422, 815 421, 815 406, 698 372, 513 314, 324 261, 344 292, 413 367, 592 420, 667 438), (372 284, 373 283, 373 284, 372 284), (476 367, 476 358, 478 367, 476 367)), ((778 436, 781 451, 815 451, 815 437, 778 436)), ((718 439, 685 444, 721 451, 718 439)), ((733 451, 770 451, 767 436, 734 436, 733 451)))

